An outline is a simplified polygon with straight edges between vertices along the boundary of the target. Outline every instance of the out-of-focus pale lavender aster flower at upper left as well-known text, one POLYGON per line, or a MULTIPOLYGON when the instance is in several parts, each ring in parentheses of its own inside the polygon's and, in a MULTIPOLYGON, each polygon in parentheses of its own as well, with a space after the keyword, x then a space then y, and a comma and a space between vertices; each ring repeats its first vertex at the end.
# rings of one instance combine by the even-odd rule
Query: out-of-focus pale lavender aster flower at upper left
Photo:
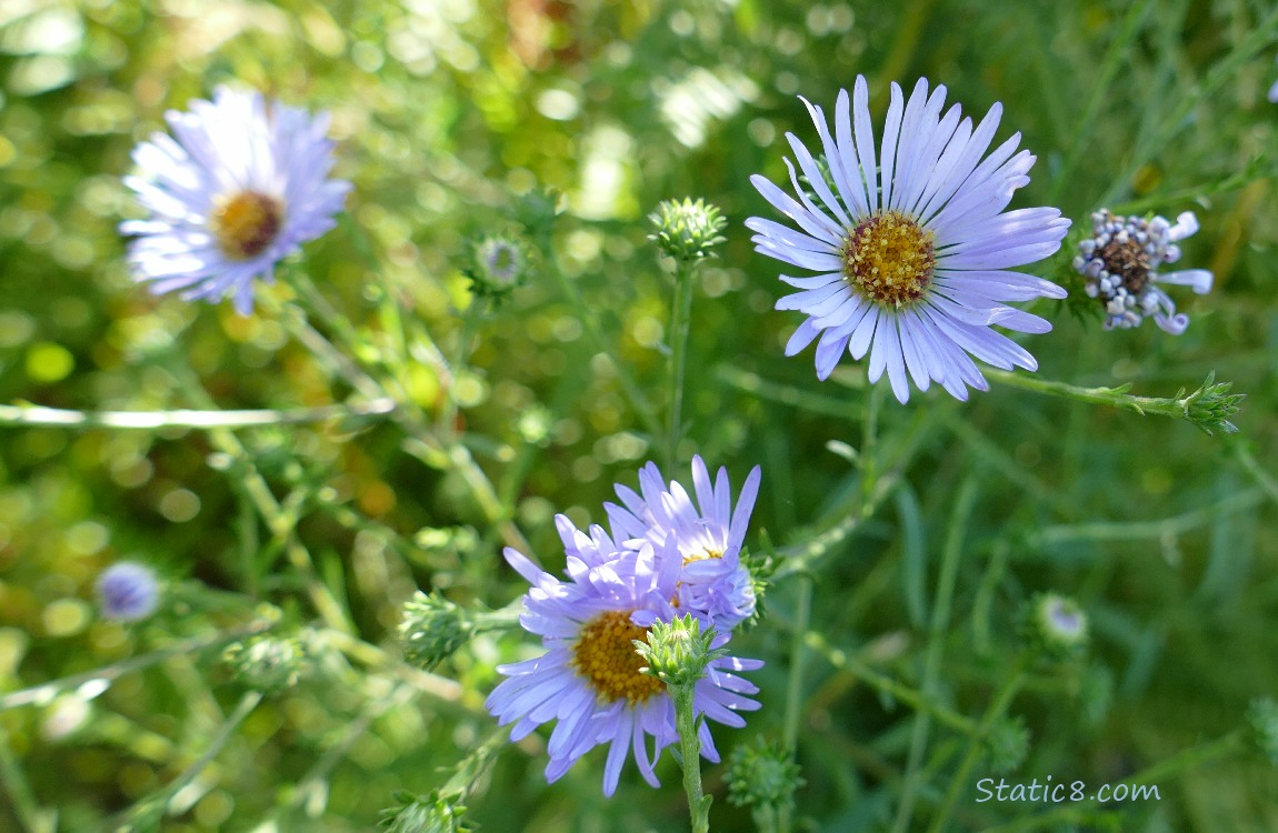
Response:
POLYGON ((234 298, 253 309, 253 280, 334 227, 350 183, 327 179, 328 118, 219 87, 212 101, 165 114, 173 137, 152 134, 133 151, 139 175, 124 179, 151 212, 127 220, 128 259, 155 294, 187 300, 234 298), (174 138, 175 137, 175 138, 174 138))

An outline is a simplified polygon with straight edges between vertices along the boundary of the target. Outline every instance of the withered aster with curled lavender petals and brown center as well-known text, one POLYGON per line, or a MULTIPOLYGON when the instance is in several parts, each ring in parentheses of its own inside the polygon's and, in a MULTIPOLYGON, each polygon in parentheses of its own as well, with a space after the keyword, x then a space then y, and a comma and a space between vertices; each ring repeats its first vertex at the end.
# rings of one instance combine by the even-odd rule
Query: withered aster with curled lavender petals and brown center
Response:
POLYGON ((1176 243, 1197 231, 1197 217, 1186 211, 1176 225, 1163 217, 1117 217, 1107 208, 1091 215, 1091 236, 1079 244, 1074 268, 1086 277, 1084 291, 1105 305, 1105 330, 1139 327, 1145 316, 1178 336, 1190 325, 1185 313, 1158 284, 1191 286, 1203 295, 1212 289, 1212 272, 1182 270, 1158 273, 1163 263, 1181 259, 1176 243))

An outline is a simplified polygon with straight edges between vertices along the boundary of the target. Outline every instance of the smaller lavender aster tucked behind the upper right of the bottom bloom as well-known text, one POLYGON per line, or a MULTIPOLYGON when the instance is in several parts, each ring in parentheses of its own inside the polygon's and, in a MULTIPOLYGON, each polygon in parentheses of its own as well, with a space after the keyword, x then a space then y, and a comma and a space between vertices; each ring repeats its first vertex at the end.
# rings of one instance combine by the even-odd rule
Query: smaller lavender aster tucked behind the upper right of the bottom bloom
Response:
MULTIPOLYGON (((617 484, 617 497, 625 506, 604 503, 603 508, 619 538, 644 538, 654 544, 674 540, 684 562, 680 608, 707 613, 720 632, 727 632, 753 616, 757 603, 750 571, 741 563, 741 543, 759 494, 759 466, 754 466, 734 510, 727 469, 720 468, 712 485, 705 462, 693 457, 693 502, 675 480, 667 487, 657 464, 649 462, 639 470, 639 493, 617 484)), ((560 534, 564 537, 562 528, 560 534)))

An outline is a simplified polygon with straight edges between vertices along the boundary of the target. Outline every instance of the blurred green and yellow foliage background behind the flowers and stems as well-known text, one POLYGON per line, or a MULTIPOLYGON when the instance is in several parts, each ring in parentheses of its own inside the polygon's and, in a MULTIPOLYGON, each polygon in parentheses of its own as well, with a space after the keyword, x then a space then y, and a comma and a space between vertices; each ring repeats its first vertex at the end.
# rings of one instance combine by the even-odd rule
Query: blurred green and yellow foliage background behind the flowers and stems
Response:
MULTIPOLYGON (((979 717, 1017 650, 1019 606, 1036 590, 1074 595, 1091 617, 1090 657, 1036 672, 1015 699, 1030 744, 1007 778, 1117 782, 1236 730, 1250 700, 1278 694, 1270 15, 1270 4, 1247 0, 8 0, 0 402, 202 408, 184 392, 185 368, 227 409, 350 394, 276 316, 156 299, 128 276, 115 226, 138 211, 120 183, 130 149, 164 129, 166 109, 235 83, 332 114, 336 175, 355 185, 349 221, 308 244, 299 263, 371 350, 385 341, 391 293, 413 344, 452 355, 470 241, 520 233, 543 188, 562 192, 566 211, 541 275, 478 325, 455 388, 466 446, 552 570, 562 563, 553 512, 604 521, 612 483, 634 485, 654 454, 615 371, 630 367, 659 405, 670 277, 644 217, 663 198, 720 206, 728 241, 700 272, 682 451, 727 465, 735 484, 760 464, 748 540, 758 548, 767 529, 777 544, 801 542, 856 506, 859 475, 826 446, 861 442, 864 367, 846 364, 819 383, 810 351, 782 355, 800 318, 772 310, 783 294, 777 264, 753 253, 741 222, 773 215, 748 178, 783 178, 787 130, 813 147, 796 95, 829 109, 859 73, 877 114, 888 80, 909 88, 920 75, 944 83, 975 118, 1001 101, 996 142, 1019 130, 1038 156, 1013 207, 1051 198, 1084 229, 1102 204, 1169 217, 1194 210, 1203 230, 1183 244, 1185 263, 1215 273, 1210 295, 1173 290, 1192 318, 1181 337, 1151 322, 1107 333, 1099 316, 1040 304, 1056 322, 1028 342, 1040 374, 1171 396, 1214 369, 1247 395, 1240 434, 1208 437, 1187 423, 998 386, 966 405, 943 391, 909 406, 888 400, 883 447, 902 448, 915 429, 916 445, 896 457, 897 491, 822 562, 813 630, 916 685, 921 611, 955 496, 970 479, 976 501, 962 528, 939 696, 979 717), (372 259, 358 250, 364 238, 372 259), (598 317, 612 360, 547 277, 555 270, 598 317)), ((1071 281, 1075 241, 1040 273, 1071 281)), ((263 291, 289 303, 286 287, 263 291)), ((427 414, 445 408, 428 362, 406 378, 427 414)), ((302 496, 298 538, 360 640, 394 652, 400 606, 418 586, 492 607, 521 593, 465 484, 414 456, 397 427, 239 436, 276 497, 302 496)), ((0 428, 0 694, 230 629, 259 600, 282 608, 285 626, 311 622, 314 611, 235 471, 196 431, 0 428), (101 621, 92 599, 97 574, 121 558, 156 566, 171 588, 170 603, 132 627, 101 621)), ((763 710, 746 730, 717 728, 721 750, 780 731, 794 607, 794 588, 780 583, 771 617, 737 640, 737 653, 768 662, 753 676, 763 710)), ((529 638, 482 638, 440 671, 460 689, 389 701, 395 672, 362 666, 358 650, 317 649, 312 676, 248 717, 183 788, 164 829, 371 829, 395 790, 442 784, 489 735, 482 700, 493 666, 533 650, 529 638), (353 724, 367 731, 350 737, 353 724), (330 749, 339 751, 322 784, 299 790, 330 749)), ((810 653, 805 673, 801 815, 813 829, 886 829, 914 712, 829 654, 810 653)), ((98 829, 196 761, 243 690, 211 650, 124 675, 91 701, 0 712, 0 795, 20 790, 33 806, 56 809, 55 829, 98 829)), ((933 737, 941 749, 957 744, 935 726, 933 737)), ((1122 807, 1114 829, 1278 829, 1278 773, 1249 742, 1160 783, 1160 801, 1122 807)), ((928 773, 924 807, 944 790, 953 758, 928 773)), ((661 791, 629 770, 612 800, 599 795, 602 756, 550 788, 543 765, 535 736, 501 754, 468 800, 483 829, 686 824, 668 759, 661 791)), ((716 827, 748 829, 748 814, 723 799, 722 768, 707 779, 716 827)), ((1042 810, 978 805, 971 792, 955 829, 1042 810)), ((0 830, 19 824, 0 801, 0 830)))

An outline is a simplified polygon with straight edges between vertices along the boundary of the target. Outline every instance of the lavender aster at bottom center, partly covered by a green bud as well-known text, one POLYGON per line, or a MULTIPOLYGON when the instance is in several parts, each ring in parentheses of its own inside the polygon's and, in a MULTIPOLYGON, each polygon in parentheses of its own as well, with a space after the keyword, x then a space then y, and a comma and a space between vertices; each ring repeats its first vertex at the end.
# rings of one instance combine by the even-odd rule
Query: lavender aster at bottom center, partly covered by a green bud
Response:
MULTIPOLYGON (((645 629, 653 622, 674 618, 671 599, 681 562, 672 547, 634 543, 611 553, 593 548, 589 562, 570 553, 567 581, 543 572, 515 549, 505 551, 510 566, 533 585, 524 595, 520 623, 542 638, 546 653, 498 666, 509 680, 486 703, 502 726, 515 723, 512 741, 557 721, 547 747, 550 782, 587 751, 607 744, 603 792, 610 796, 631 754, 644 781, 658 786, 653 768, 661 751, 679 740, 666 684, 639 671, 644 663, 633 640, 647 640, 645 629)), ((714 648, 725 643, 727 635, 722 634, 714 648)), ((758 689, 731 672, 762 664, 732 657, 714 659, 697 684, 695 712, 726 726, 745 726, 737 712, 759 708, 748 696, 758 689)), ((698 736, 702 754, 717 761, 705 722, 698 736)))

